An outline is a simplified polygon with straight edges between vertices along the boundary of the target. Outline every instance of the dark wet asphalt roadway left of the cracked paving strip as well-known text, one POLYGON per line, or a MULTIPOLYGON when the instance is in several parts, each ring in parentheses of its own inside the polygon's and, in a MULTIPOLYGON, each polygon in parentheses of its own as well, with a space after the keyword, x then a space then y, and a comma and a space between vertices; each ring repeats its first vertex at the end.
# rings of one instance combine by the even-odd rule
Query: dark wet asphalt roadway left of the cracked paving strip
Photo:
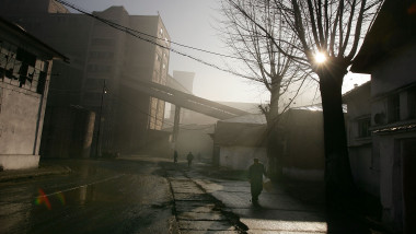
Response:
POLYGON ((54 161, 69 175, 0 184, 0 233, 171 233, 173 196, 151 161, 54 161))

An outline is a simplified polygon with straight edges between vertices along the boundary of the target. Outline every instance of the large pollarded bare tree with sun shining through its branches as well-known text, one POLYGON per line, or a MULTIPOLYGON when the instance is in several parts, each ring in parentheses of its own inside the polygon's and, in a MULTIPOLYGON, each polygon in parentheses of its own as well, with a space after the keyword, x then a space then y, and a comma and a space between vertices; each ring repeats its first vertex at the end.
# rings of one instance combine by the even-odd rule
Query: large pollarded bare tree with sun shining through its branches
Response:
MULTIPOLYGON (((263 19, 253 17, 246 5, 251 1, 227 0, 244 14, 269 38, 275 38, 263 27, 263 19)), ((274 9, 284 19, 290 34, 280 38, 282 45, 293 44, 296 51, 275 43, 284 55, 293 52, 292 59, 308 67, 317 75, 324 115, 325 182, 330 199, 340 192, 355 190, 342 106, 342 85, 348 67, 357 54, 362 35, 377 15, 382 0, 258 0, 255 8, 274 9), (322 55, 326 60, 316 61, 322 55)))

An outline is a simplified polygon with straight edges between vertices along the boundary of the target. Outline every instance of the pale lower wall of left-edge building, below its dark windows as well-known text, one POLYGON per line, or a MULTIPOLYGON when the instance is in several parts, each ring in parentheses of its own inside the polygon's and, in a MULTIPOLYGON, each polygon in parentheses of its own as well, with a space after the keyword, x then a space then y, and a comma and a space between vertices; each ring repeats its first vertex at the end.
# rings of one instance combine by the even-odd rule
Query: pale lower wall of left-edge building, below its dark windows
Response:
POLYGON ((0 164, 4 169, 37 167, 42 95, 2 82, 0 94, 0 164))

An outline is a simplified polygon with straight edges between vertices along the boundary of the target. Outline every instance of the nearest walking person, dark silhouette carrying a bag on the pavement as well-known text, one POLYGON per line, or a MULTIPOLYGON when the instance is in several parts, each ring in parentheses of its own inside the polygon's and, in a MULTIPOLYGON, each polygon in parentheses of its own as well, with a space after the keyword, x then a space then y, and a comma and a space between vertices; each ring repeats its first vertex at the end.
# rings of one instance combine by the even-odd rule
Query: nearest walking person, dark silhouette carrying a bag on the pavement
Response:
POLYGON ((251 165, 249 168, 249 178, 250 178, 253 203, 257 203, 258 196, 262 194, 263 175, 266 175, 264 165, 258 162, 258 159, 254 159, 253 165, 251 165))

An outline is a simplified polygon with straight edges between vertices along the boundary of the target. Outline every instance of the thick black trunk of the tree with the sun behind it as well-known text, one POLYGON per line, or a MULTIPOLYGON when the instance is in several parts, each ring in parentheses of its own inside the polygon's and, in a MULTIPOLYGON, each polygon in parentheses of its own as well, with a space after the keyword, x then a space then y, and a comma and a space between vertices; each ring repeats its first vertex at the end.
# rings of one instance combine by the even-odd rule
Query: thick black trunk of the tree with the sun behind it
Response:
POLYGON ((322 70, 320 90, 324 116, 325 184, 328 204, 347 202, 355 191, 342 101, 346 69, 322 70))

